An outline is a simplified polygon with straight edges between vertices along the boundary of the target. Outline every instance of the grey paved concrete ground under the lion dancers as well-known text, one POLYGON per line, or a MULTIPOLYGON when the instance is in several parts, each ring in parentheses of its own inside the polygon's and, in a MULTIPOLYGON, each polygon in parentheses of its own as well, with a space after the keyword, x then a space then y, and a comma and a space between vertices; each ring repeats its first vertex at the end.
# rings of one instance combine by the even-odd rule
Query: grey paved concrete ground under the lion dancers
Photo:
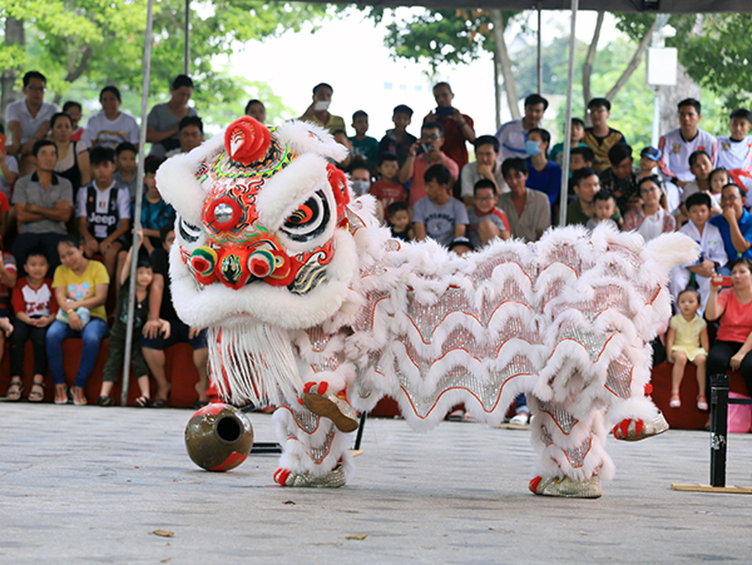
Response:
MULTIPOLYGON (((371 419, 350 485, 292 489, 274 486, 274 455, 196 467, 191 413, 0 404, 0 563, 752 561, 752 496, 669 486, 709 481, 704 432, 611 438, 616 479, 571 500, 527 491, 526 431, 371 419)), ((250 418, 275 439, 271 416, 250 418)), ((752 434, 730 437, 727 483, 752 486, 752 434)))

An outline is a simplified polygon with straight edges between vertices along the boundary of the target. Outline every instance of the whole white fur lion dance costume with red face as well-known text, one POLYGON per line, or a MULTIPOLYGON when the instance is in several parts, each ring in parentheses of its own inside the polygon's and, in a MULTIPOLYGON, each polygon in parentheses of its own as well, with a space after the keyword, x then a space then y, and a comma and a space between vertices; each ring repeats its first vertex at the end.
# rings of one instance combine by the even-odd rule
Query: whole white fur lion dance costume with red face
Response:
POLYGON ((426 431, 456 403, 498 425, 524 392, 530 489, 599 496, 614 473, 607 429, 667 428, 646 396, 649 342, 669 319, 669 272, 696 244, 570 227, 460 258, 391 239, 332 165, 345 154, 317 126, 246 116, 157 173, 177 211, 174 305, 208 328, 213 385, 230 403, 280 406, 274 480, 344 485, 352 406, 388 394, 426 431))

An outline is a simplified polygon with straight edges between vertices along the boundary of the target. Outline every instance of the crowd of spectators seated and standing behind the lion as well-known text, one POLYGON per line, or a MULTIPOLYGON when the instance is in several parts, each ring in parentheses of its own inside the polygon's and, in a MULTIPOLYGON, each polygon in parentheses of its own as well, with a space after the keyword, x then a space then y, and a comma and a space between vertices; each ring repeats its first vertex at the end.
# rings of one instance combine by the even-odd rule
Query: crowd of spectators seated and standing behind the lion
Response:
MULTIPOLYGON (((119 296, 114 289, 129 285, 124 267, 128 264, 126 254, 132 252, 135 189, 143 182, 143 232, 137 238, 140 259, 135 282, 141 309, 138 355, 142 355, 133 360, 141 385, 137 405, 166 405, 170 383, 165 375, 164 349, 176 340, 193 346, 201 377, 196 385, 197 404, 205 403, 205 332, 184 325, 171 307, 167 252, 174 239, 174 212, 162 201, 154 181, 163 159, 189 151, 204 140, 202 119, 189 105, 193 81, 185 75, 176 77, 169 101, 156 104, 146 116, 150 150, 142 180, 136 178, 135 166, 138 120, 120 110, 117 87, 102 89, 102 111, 80 127, 81 104, 67 101, 60 112, 56 104, 44 101, 45 86, 44 75, 27 73, 24 98, 8 106, 6 117, 8 144, 0 160, 0 231, 13 243, 12 253, 6 252, 0 265, 4 289, 0 299, 5 296, 10 304, 12 292, 14 301, 12 309, 0 306, 0 315, 5 314, 0 316, 0 339, 17 336, 11 338, 11 356, 15 356, 21 337, 29 337, 40 348, 41 330, 49 328, 46 355, 56 385, 56 402, 68 401, 68 391, 59 382, 60 367, 52 367, 59 364, 59 343, 74 335, 88 343, 87 334, 96 333, 99 340, 106 334, 108 316, 100 309, 109 286, 113 286, 111 295, 119 296), (105 266, 84 280, 89 262, 98 259, 105 266), (47 265, 45 273, 41 273, 42 263, 47 265), (113 278, 115 285, 111 285, 113 278), (26 289, 20 295, 23 300, 16 297, 19 286, 26 289), (33 298, 32 292, 36 293, 33 298), (79 302, 89 311, 83 313, 86 322, 78 313, 79 302), (13 312, 11 325, 8 319, 13 312), (97 319, 105 324, 105 331, 87 331, 99 325, 97 319), (148 379, 144 385, 147 372, 157 382, 154 394, 150 394, 148 379)), ((685 309, 686 316, 684 310, 678 311, 677 316, 684 316, 685 322, 705 313, 708 321, 720 318, 723 327, 724 316, 748 310, 746 291, 734 282, 744 278, 740 279, 738 272, 744 268, 749 272, 749 264, 737 261, 752 259, 752 215, 747 211, 752 204, 747 201, 752 187, 752 114, 748 110, 734 110, 729 116, 729 134, 714 137, 699 128, 699 101, 687 98, 678 104, 678 128, 664 134, 658 147, 639 148, 635 157, 624 134, 608 125, 611 101, 593 98, 587 104, 588 119, 572 119, 570 177, 562 192, 562 144, 551 147, 550 131, 541 127, 548 108, 546 98, 529 95, 523 117, 492 134, 478 131, 472 117, 456 107, 449 83, 436 84, 432 92, 435 106, 418 124, 420 137, 408 131, 414 111, 405 104, 394 108, 394 127, 381 139, 368 135, 365 110, 353 113, 350 127, 354 134, 348 136, 344 118, 330 112, 334 89, 326 83, 314 86, 311 104, 300 116, 328 129, 350 150, 347 159, 337 165, 350 174, 356 195, 374 195, 378 215, 394 237, 431 237, 458 254, 481 249, 496 238, 534 242, 558 224, 559 209, 566 200, 566 225, 593 229, 605 222, 616 230, 637 231, 646 240, 680 230, 698 241, 702 247, 699 261, 672 273, 671 291, 677 304, 682 297, 687 303, 696 298, 696 304, 685 309), (468 144, 475 159, 468 154, 468 144), (719 284, 723 282, 732 290, 719 294, 711 283, 717 276, 730 276, 730 280, 719 279, 719 284), (687 296, 687 288, 694 294, 687 296), (726 307, 736 304, 724 298, 729 292, 739 299, 738 308, 726 307)), ((245 113, 266 121, 263 101, 250 100, 245 113)), ((118 300, 117 312, 111 314, 113 328, 122 321, 120 304, 118 300)), ((685 353, 678 353, 678 340, 687 337, 687 332, 676 331, 684 328, 680 322, 672 320, 667 354, 683 370, 687 361, 696 362, 697 356, 686 354, 687 343, 681 344, 685 353)), ((752 330, 752 323, 749 325, 752 330)), ((123 328, 110 331, 111 340, 115 334, 117 340, 124 339, 123 328)), ((738 343, 741 333, 732 332, 731 337, 730 341, 738 343)), ((95 339, 89 341, 94 347, 95 339)), ((752 337, 745 337, 741 344, 726 364, 741 367, 744 373, 747 364, 752 367, 752 357, 738 358, 752 351, 752 337)), ((708 343, 698 338, 696 346, 704 351, 699 355, 704 370, 708 343)), ((111 352, 116 357, 122 355, 117 345, 111 345, 111 352)), ((29 399, 41 400, 44 355, 35 355, 35 361, 29 399)), ((720 364, 718 355, 708 357, 708 365, 720 364)), ((12 367, 8 397, 16 400, 23 392, 17 358, 12 359, 12 367)), ((82 364, 71 394, 74 403, 86 403, 83 385, 87 370, 90 368, 82 364)), ((752 390, 752 370, 744 377, 752 390)), ((112 403, 109 392, 114 379, 117 374, 113 376, 109 370, 98 400, 102 406, 112 403)), ((675 381, 681 379, 676 376, 675 381)), ((675 388, 672 406, 681 403, 678 385, 675 388)), ((702 386, 698 392, 698 406, 706 407, 702 386)), ((527 411, 523 401, 518 401, 517 412, 524 423, 527 411)))

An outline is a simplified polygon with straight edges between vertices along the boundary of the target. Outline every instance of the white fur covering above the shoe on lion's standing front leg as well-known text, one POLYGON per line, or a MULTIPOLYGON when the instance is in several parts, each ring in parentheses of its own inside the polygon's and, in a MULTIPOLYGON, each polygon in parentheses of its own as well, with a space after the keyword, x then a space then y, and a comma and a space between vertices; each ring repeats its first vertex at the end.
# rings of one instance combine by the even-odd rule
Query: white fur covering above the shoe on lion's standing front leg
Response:
POLYGON ((302 406, 280 406, 273 419, 282 446, 280 467, 293 473, 325 476, 341 464, 350 478, 354 470, 349 451, 351 434, 342 433, 329 418, 320 418, 302 406))

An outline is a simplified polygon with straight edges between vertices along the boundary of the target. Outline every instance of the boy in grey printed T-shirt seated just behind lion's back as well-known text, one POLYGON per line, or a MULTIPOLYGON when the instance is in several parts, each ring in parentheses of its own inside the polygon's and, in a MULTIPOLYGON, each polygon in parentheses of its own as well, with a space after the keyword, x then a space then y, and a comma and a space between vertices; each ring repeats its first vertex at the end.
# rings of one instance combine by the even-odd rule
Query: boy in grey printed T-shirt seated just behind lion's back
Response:
POLYGON ((452 175, 444 165, 431 165, 423 174, 423 181, 427 196, 417 201, 413 209, 415 238, 423 241, 431 237, 449 246, 456 237, 465 235, 465 204, 452 197, 452 175))

